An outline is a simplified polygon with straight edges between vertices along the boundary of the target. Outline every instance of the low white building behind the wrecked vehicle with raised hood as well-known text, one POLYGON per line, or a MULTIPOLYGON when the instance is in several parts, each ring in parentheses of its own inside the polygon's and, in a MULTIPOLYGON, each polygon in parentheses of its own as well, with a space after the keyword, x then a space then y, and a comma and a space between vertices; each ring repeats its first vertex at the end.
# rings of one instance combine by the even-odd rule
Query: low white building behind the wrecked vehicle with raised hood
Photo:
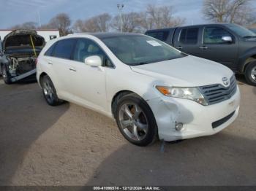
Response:
MULTIPOLYGON (((7 36, 7 34, 10 34, 13 30, 4 30, 0 29, 0 40, 4 39, 4 36, 7 36)), ((45 42, 48 42, 50 39, 56 39, 59 37, 59 30, 36 30, 37 34, 44 37, 45 42)))

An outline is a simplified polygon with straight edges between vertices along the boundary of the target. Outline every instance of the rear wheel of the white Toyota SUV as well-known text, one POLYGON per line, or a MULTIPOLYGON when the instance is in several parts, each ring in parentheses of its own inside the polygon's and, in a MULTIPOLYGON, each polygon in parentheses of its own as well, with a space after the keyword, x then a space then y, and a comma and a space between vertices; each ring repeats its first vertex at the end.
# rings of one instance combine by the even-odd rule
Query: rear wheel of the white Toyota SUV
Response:
POLYGON ((51 81, 50 77, 44 76, 40 81, 42 87, 42 94, 44 95, 45 101, 50 106, 57 106, 63 104, 64 101, 58 98, 56 89, 51 81))

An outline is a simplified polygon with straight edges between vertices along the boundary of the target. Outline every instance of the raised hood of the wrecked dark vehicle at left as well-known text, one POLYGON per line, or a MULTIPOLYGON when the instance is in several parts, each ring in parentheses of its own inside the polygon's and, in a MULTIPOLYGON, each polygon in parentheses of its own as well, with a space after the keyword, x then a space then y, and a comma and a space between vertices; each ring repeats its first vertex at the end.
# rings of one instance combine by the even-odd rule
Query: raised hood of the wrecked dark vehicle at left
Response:
POLYGON ((43 47, 45 39, 34 30, 14 30, 3 39, 3 50, 14 50, 32 47, 31 37, 34 47, 43 47))

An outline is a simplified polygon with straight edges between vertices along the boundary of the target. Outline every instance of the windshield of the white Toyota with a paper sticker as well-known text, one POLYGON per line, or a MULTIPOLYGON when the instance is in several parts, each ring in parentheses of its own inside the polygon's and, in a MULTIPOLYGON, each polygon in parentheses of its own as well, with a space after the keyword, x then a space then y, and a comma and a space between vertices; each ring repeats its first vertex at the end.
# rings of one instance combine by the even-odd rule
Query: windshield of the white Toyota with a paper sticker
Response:
POLYGON ((102 41, 120 61, 130 66, 167 61, 185 56, 184 53, 149 36, 126 34, 105 37, 102 41))

